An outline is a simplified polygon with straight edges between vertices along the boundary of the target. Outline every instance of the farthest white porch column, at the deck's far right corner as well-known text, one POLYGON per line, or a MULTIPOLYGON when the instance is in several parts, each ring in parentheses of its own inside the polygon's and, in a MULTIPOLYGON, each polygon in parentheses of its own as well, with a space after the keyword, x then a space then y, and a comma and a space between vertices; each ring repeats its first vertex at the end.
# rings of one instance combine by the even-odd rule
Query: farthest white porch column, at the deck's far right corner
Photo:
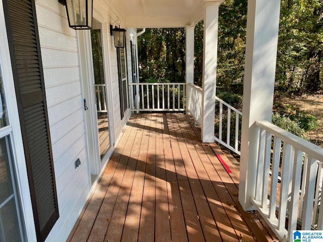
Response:
POLYGON ((188 86, 194 83, 194 26, 186 26, 186 112, 189 108, 188 86))

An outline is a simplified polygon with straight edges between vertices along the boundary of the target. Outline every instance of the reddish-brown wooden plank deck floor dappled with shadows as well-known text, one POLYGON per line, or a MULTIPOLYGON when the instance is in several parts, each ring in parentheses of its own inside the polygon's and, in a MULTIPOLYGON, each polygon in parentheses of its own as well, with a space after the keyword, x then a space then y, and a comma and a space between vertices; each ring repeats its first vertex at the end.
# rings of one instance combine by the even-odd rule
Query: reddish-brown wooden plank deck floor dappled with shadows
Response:
POLYGON ((68 241, 278 241, 198 132, 185 114, 133 115, 68 241))

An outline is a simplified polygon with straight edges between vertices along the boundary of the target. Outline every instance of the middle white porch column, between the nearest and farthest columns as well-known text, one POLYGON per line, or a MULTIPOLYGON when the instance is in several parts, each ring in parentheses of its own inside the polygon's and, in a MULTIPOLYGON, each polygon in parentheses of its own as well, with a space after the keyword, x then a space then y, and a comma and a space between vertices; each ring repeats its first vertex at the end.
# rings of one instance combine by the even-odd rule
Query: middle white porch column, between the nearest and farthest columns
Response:
POLYGON ((205 3, 203 38, 202 142, 214 142, 220 2, 205 3))

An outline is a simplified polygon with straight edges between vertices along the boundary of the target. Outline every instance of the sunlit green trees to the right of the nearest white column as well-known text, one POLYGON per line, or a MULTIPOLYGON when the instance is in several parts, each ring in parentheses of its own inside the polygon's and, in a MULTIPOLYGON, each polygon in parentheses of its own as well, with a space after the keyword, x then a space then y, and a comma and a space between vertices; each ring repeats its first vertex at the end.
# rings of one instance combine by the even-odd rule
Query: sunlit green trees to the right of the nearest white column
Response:
POLYGON ((323 3, 283 0, 277 54, 276 90, 307 93, 322 89, 323 3))

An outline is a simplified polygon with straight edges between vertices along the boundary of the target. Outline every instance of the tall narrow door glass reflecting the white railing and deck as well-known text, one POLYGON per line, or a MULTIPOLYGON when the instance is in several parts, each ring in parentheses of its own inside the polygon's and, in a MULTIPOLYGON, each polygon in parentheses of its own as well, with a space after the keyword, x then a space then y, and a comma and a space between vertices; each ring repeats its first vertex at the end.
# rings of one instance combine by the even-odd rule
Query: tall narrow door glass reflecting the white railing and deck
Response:
POLYGON ((103 63, 101 24, 93 19, 91 30, 92 57, 94 71, 94 91, 97 112, 97 130, 101 160, 111 146, 109 115, 106 98, 106 86, 103 63))

